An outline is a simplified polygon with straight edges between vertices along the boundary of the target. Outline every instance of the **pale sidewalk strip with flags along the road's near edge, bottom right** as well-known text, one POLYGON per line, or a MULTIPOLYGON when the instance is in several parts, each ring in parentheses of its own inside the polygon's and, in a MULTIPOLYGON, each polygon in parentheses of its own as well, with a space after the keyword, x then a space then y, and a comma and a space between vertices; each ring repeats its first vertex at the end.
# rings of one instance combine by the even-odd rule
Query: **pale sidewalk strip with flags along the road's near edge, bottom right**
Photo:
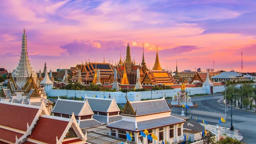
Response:
MULTIPOLYGON (((200 123, 202 126, 204 126, 206 128, 206 130, 210 130, 211 132, 213 133, 217 133, 216 132, 216 127, 215 125, 206 125, 206 124, 203 124, 203 123, 200 123)), ((238 131, 238 130, 229 130, 229 128, 227 128, 227 130, 225 130, 225 127, 222 127, 222 126, 219 126, 220 127, 220 136, 223 136, 223 135, 226 135, 230 138, 236 138, 237 140, 241 141, 243 140, 243 136, 242 134, 238 131)))

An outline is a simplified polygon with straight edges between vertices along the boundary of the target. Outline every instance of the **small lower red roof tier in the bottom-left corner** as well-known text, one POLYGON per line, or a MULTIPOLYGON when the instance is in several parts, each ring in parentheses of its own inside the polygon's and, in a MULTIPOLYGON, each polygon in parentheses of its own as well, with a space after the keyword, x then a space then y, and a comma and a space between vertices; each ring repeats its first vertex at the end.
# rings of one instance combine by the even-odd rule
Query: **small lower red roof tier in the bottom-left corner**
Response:
MULTIPOLYGON (((4 119, 4 118, 2 118, 4 119)), ((12 142, 15 143, 16 142, 16 136, 17 138, 20 138, 21 136, 23 136, 23 134, 18 133, 18 132, 14 132, 11 130, 7 130, 4 128, 0 128, 0 139, 2 140, 7 140, 8 142, 12 142)), ((0 140, 0 144, 2 144, 1 140, 0 140)))

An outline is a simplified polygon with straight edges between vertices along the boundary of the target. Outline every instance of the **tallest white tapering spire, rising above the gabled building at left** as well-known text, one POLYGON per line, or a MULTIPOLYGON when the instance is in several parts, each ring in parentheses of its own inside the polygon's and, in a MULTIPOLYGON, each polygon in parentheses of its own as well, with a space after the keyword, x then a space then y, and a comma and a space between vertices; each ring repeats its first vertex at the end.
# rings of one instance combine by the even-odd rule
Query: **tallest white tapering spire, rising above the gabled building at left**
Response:
POLYGON ((30 77, 31 73, 34 80, 37 79, 37 75, 32 70, 32 67, 30 66, 30 62, 28 59, 27 36, 25 34, 25 31, 26 30, 24 28, 23 35, 22 35, 22 48, 21 48, 22 51, 20 54, 20 62, 16 70, 14 70, 12 73, 12 76, 16 79, 16 83, 20 88, 26 83, 26 80, 30 77))

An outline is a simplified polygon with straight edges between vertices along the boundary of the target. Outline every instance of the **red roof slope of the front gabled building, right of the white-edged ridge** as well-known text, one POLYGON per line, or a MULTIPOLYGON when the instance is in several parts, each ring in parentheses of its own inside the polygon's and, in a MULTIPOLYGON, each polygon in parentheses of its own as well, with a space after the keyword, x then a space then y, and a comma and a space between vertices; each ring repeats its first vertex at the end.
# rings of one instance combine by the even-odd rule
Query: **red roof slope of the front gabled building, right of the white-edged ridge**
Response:
POLYGON ((66 121, 40 117, 28 138, 48 144, 55 144, 56 136, 59 139, 67 126, 68 122, 66 121))

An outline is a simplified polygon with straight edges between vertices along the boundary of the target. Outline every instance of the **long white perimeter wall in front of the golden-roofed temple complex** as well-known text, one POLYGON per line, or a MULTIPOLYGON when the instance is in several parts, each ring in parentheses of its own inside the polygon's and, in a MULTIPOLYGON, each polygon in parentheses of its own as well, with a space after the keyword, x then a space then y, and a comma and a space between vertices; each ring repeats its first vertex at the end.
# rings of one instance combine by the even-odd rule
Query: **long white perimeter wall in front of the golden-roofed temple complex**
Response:
MULTIPOLYGON (((238 86, 239 87, 239 86, 238 86)), ((225 90, 225 86, 214 86, 213 92, 222 92, 225 90)), ((123 92, 99 92, 99 91, 84 91, 84 90, 56 90, 51 89, 47 90, 48 96, 67 96, 67 97, 80 97, 85 98, 97 96, 98 98, 115 98, 117 103, 126 103, 126 93, 123 92)), ((188 95, 194 94, 206 94, 208 92, 207 88, 197 87, 197 88, 186 88, 188 95)), ((172 97, 180 92, 180 88, 175 88, 172 90, 152 90, 152 91, 144 91, 144 92, 128 92, 127 97, 130 101, 139 101, 141 99, 150 99, 150 98, 162 98, 166 95, 166 97, 172 97)))

